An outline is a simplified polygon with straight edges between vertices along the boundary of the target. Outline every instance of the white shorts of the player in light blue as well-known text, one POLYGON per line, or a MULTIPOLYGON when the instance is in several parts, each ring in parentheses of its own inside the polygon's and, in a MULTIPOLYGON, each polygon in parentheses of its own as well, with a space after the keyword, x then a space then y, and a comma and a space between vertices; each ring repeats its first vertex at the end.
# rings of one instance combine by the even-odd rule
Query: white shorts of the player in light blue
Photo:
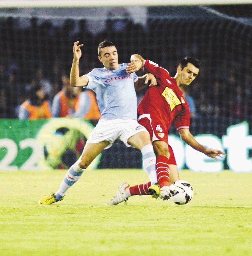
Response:
POLYGON ((127 147, 128 139, 138 132, 148 132, 144 126, 138 124, 134 119, 100 119, 95 129, 91 133, 87 142, 99 143, 108 141, 110 144, 105 148, 110 148, 116 139, 121 140, 127 147))

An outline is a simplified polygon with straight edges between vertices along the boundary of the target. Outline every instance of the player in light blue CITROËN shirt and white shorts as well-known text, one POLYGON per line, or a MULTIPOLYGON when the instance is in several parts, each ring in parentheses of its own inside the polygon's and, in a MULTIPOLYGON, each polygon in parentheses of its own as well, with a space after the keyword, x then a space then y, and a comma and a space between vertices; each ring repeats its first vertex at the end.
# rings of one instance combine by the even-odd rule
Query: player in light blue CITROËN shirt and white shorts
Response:
POLYGON ((133 146, 143 154, 144 169, 150 178, 150 194, 159 194, 156 174, 156 156, 150 135, 137 122, 137 99, 135 87, 147 84, 148 76, 138 78, 128 74, 128 63, 118 64, 116 47, 107 40, 98 46, 98 59, 103 68, 94 68, 84 76, 79 76, 81 47, 79 41, 73 45, 73 64, 70 73, 71 86, 82 86, 96 93, 101 118, 83 149, 80 158, 69 168, 59 190, 39 200, 39 204, 53 204, 61 201, 67 190, 81 177, 83 171, 102 152, 112 146, 118 138, 126 146, 133 146))

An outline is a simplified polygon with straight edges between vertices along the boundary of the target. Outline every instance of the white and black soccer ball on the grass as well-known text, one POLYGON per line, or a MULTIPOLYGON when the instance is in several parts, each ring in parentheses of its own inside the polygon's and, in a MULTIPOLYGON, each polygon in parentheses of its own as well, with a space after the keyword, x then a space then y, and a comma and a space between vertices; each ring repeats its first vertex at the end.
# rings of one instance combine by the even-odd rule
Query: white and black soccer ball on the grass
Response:
POLYGON ((169 187, 169 196, 175 204, 187 204, 193 197, 193 188, 185 180, 177 180, 169 187))

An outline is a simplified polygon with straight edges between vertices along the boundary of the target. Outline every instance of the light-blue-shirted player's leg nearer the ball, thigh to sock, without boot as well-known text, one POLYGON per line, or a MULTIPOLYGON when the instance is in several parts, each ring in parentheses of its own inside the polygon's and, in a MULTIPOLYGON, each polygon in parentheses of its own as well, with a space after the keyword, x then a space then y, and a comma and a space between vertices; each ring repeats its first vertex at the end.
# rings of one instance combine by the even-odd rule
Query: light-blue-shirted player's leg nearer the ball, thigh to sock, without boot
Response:
POLYGON ((151 186, 158 183, 156 173, 156 155, 150 141, 150 134, 144 130, 128 138, 128 144, 141 150, 144 170, 148 172, 151 186))

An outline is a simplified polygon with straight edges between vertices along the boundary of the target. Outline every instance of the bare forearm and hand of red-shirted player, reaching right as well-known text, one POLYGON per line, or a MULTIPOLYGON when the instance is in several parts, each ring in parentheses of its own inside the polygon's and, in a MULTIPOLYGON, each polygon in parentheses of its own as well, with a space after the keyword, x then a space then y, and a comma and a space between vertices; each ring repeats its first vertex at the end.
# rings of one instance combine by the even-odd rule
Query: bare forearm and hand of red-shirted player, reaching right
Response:
POLYGON ((224 159, 226 154, 221 150, 213 149, 213 148, 205 148, 203 145, 199 144, 191 134, 188 128, 179 129, 180 138, 187 143, 189 146, 194 148, 195 150, 204 153, 205 155, 216 158, 218 160, 224 159))

